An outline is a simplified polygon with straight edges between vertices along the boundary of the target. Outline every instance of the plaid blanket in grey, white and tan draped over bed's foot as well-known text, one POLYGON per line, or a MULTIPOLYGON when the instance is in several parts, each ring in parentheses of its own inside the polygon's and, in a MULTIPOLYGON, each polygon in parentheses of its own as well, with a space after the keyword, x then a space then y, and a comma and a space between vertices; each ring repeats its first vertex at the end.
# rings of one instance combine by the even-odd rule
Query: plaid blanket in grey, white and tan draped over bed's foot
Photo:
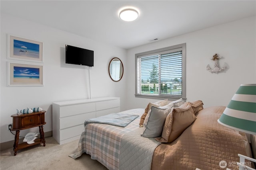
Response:
POLYGON ((119 169, 120 145, 122 137, 139 128, 140 117, 145 109, 131 109, 120 113, 139 115, 126 127, 118 127, 100 123, 89 123, 81 134, 78 148, 70 154, 72 158, 78 158, 82 153, 91 155, 92 159, 98 160, 109 170, 119 169))

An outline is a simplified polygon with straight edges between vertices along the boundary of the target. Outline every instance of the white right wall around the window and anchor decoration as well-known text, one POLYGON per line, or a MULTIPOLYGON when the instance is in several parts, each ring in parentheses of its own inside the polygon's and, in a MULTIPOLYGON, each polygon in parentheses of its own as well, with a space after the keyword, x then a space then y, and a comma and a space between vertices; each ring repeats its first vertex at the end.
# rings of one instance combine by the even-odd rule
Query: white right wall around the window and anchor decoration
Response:
POLYGON ((256 83, 256 18, 245 18, 223 25, 202 29, 170 39, 128 50, 126 109, 145 108, 156 100, 135 98, 135 54, 186 43, 187 101, 202 100, 204 107, 227 106, 240 84, 256 83), (223 58, 219 66, 229 69, 218 74, 206 70, 218 53, 223 58))

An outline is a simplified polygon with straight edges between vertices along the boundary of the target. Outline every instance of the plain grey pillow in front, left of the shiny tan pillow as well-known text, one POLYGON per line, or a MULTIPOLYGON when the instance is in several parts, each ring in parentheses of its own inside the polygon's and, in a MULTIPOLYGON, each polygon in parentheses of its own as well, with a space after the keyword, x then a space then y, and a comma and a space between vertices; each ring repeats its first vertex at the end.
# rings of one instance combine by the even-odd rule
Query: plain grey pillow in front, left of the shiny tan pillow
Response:
POLYGON ((172 107, 157 108, 152 106, 144 120, 142 137, 159 137, 162 135, 164 122, 167 115, 172 111, 172 107))

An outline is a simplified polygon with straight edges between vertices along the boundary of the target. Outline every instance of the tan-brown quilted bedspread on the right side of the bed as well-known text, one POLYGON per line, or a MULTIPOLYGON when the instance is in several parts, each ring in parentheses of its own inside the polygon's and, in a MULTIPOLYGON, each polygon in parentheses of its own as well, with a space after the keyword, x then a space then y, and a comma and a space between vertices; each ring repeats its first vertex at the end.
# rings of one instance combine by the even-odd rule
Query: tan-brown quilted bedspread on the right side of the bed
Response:
POLYGON ((234 164, 239 162, 238 153, 246 155, 245 139, 238 131, 217 122, 225 108, 215 106, 201 110, 196 121, 178 139, 156 148, 151 169, 219 170, 223 169, 222 160, 226 161, 226 168, 238 169, 234 164))

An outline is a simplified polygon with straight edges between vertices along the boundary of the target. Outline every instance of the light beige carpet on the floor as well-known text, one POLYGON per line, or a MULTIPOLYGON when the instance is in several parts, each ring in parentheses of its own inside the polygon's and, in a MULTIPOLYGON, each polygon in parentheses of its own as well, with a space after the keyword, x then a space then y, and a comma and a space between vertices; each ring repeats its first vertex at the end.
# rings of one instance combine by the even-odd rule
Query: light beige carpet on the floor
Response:
POLYGON ((45 147, 38 144, 20 149, 16 156, 13 148, 1 151, 0 170, 107 170, 88 154, 76 159, 68 156, 76 151, 78 140, 63 145, 59 145, 53 137, 47 137, 45 141, 45 147))

